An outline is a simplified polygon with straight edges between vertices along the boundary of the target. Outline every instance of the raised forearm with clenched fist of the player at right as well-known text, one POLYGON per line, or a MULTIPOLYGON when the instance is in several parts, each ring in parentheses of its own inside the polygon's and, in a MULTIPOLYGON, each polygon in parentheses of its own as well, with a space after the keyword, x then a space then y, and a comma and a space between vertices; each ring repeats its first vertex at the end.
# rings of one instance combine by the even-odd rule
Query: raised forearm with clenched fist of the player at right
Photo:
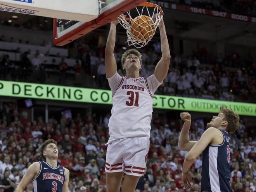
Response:
POLYGON ((189 140, 191 116, 188 112, 182 112, 180 113, 180 118, 184 121, 184 124, 182 130, 180 131, 178 147, 180 150, 189 151, 196 144, 196 141, 189 140))

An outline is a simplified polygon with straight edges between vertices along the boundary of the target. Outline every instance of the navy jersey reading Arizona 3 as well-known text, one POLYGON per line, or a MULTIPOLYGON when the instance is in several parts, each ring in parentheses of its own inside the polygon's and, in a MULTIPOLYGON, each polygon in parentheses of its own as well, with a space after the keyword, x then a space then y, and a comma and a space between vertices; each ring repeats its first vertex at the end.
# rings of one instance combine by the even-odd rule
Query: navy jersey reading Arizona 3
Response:
POLYGON ((40 171, 33 182, 33 192, 62 192, 63 183, 66 180, 64 167, 58 165, 51 167, 44 161, 39 161, 40 171))

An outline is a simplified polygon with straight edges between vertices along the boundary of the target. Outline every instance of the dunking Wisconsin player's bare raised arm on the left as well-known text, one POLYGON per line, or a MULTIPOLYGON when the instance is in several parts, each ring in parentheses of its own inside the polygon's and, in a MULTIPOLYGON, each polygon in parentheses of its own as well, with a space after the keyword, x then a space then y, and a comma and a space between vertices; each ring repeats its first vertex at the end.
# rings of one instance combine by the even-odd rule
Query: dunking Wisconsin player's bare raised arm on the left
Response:
POLYGON ((116 45, 116 25, 118 20, 114 20, 110 23, 109 35, 107 37, 106 49, 105 49, 105 69, 107 78, 111 78, 117 70, 116 59, 114 57, 114 48, 116 45))

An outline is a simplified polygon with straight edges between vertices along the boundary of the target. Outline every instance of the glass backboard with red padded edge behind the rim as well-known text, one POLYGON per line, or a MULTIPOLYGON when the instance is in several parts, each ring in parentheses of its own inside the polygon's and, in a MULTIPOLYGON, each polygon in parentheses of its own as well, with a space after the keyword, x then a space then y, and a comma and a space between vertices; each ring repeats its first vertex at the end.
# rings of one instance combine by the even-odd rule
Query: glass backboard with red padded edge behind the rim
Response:
MULTIPOLYGON (((145 0, 99 0, 99 16, 85 22, 58 18, 54 19, 54 44, 66 45, 67 43, 86 35, 90 31, 116 19, 119 15, 133 9, 145 0)), ((89 2, 85 3, 90 6, 89 2)), ((79 6, 79 5, 78 5, 79 6)))

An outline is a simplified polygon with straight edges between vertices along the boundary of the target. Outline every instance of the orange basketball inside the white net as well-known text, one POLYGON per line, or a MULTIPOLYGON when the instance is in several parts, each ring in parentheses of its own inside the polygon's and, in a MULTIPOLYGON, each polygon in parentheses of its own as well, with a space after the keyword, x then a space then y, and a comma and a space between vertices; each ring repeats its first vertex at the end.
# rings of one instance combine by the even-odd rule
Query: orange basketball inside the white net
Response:
POLYGON ((131 20, 131 35, 136 40, 148 40, 155 34, 155 26, 149 16, 138 16, 131 20))

